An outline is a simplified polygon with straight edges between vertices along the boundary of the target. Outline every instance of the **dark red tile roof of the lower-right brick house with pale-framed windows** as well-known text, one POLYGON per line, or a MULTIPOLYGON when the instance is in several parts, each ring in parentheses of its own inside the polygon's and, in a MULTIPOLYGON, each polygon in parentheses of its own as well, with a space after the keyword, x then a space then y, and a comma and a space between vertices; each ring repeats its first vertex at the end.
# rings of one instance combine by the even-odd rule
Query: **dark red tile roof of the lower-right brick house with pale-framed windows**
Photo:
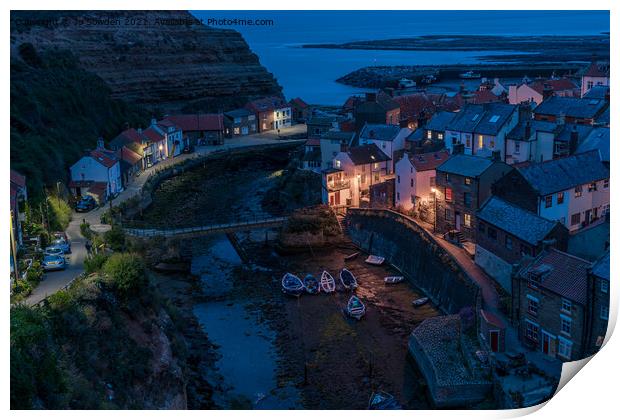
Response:
POLYGON ((542 287, 584 305, 589 267, 589 261, 551 248, 521 270, 521 275, 527 277, 530 273, 542 273, 542 287))

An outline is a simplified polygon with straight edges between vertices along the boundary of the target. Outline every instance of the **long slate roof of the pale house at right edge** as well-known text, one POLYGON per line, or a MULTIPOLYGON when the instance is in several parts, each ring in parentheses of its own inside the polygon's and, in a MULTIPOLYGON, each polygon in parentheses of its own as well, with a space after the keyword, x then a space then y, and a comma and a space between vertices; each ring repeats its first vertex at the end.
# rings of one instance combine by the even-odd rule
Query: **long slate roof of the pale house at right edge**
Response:
POLYGON ((540 195, 565 191, 609 178, 598 151, 589 151, 516 168, 540 195))

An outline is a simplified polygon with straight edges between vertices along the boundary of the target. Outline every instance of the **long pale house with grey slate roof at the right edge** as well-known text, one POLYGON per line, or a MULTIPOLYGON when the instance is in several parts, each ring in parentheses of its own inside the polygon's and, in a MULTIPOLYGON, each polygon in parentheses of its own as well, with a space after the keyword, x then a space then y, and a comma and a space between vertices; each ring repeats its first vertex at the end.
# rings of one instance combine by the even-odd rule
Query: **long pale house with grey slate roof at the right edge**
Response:
POLYGON ((493 192, 576 232, 609 213, 609 169, 598 151, 589 151, 516 167, 493 192))

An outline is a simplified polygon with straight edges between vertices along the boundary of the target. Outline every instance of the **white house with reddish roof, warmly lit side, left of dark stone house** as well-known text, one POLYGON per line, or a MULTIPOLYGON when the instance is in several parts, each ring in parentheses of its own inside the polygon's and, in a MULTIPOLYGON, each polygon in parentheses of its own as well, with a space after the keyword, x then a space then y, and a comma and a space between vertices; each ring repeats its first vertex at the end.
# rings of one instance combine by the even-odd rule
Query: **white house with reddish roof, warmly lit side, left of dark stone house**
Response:
POLYGON ((411 210, 419 203, 431 203, 435 169, 449 157, 447 150, 417 155, 405 153, 395 165, 396 206, 411 210))

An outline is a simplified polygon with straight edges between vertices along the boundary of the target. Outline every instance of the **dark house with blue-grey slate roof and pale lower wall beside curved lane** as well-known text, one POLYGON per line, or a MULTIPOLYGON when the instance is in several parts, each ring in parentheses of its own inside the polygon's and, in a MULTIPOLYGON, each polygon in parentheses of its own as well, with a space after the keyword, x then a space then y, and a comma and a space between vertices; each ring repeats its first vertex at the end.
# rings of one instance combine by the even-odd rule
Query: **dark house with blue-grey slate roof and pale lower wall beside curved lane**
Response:
POLYGON ((513 265, 536 257, 546 244, 566 250, 568 229, 499 197, 491 196, 476 213, 475 262, 511 294, 513 265))

